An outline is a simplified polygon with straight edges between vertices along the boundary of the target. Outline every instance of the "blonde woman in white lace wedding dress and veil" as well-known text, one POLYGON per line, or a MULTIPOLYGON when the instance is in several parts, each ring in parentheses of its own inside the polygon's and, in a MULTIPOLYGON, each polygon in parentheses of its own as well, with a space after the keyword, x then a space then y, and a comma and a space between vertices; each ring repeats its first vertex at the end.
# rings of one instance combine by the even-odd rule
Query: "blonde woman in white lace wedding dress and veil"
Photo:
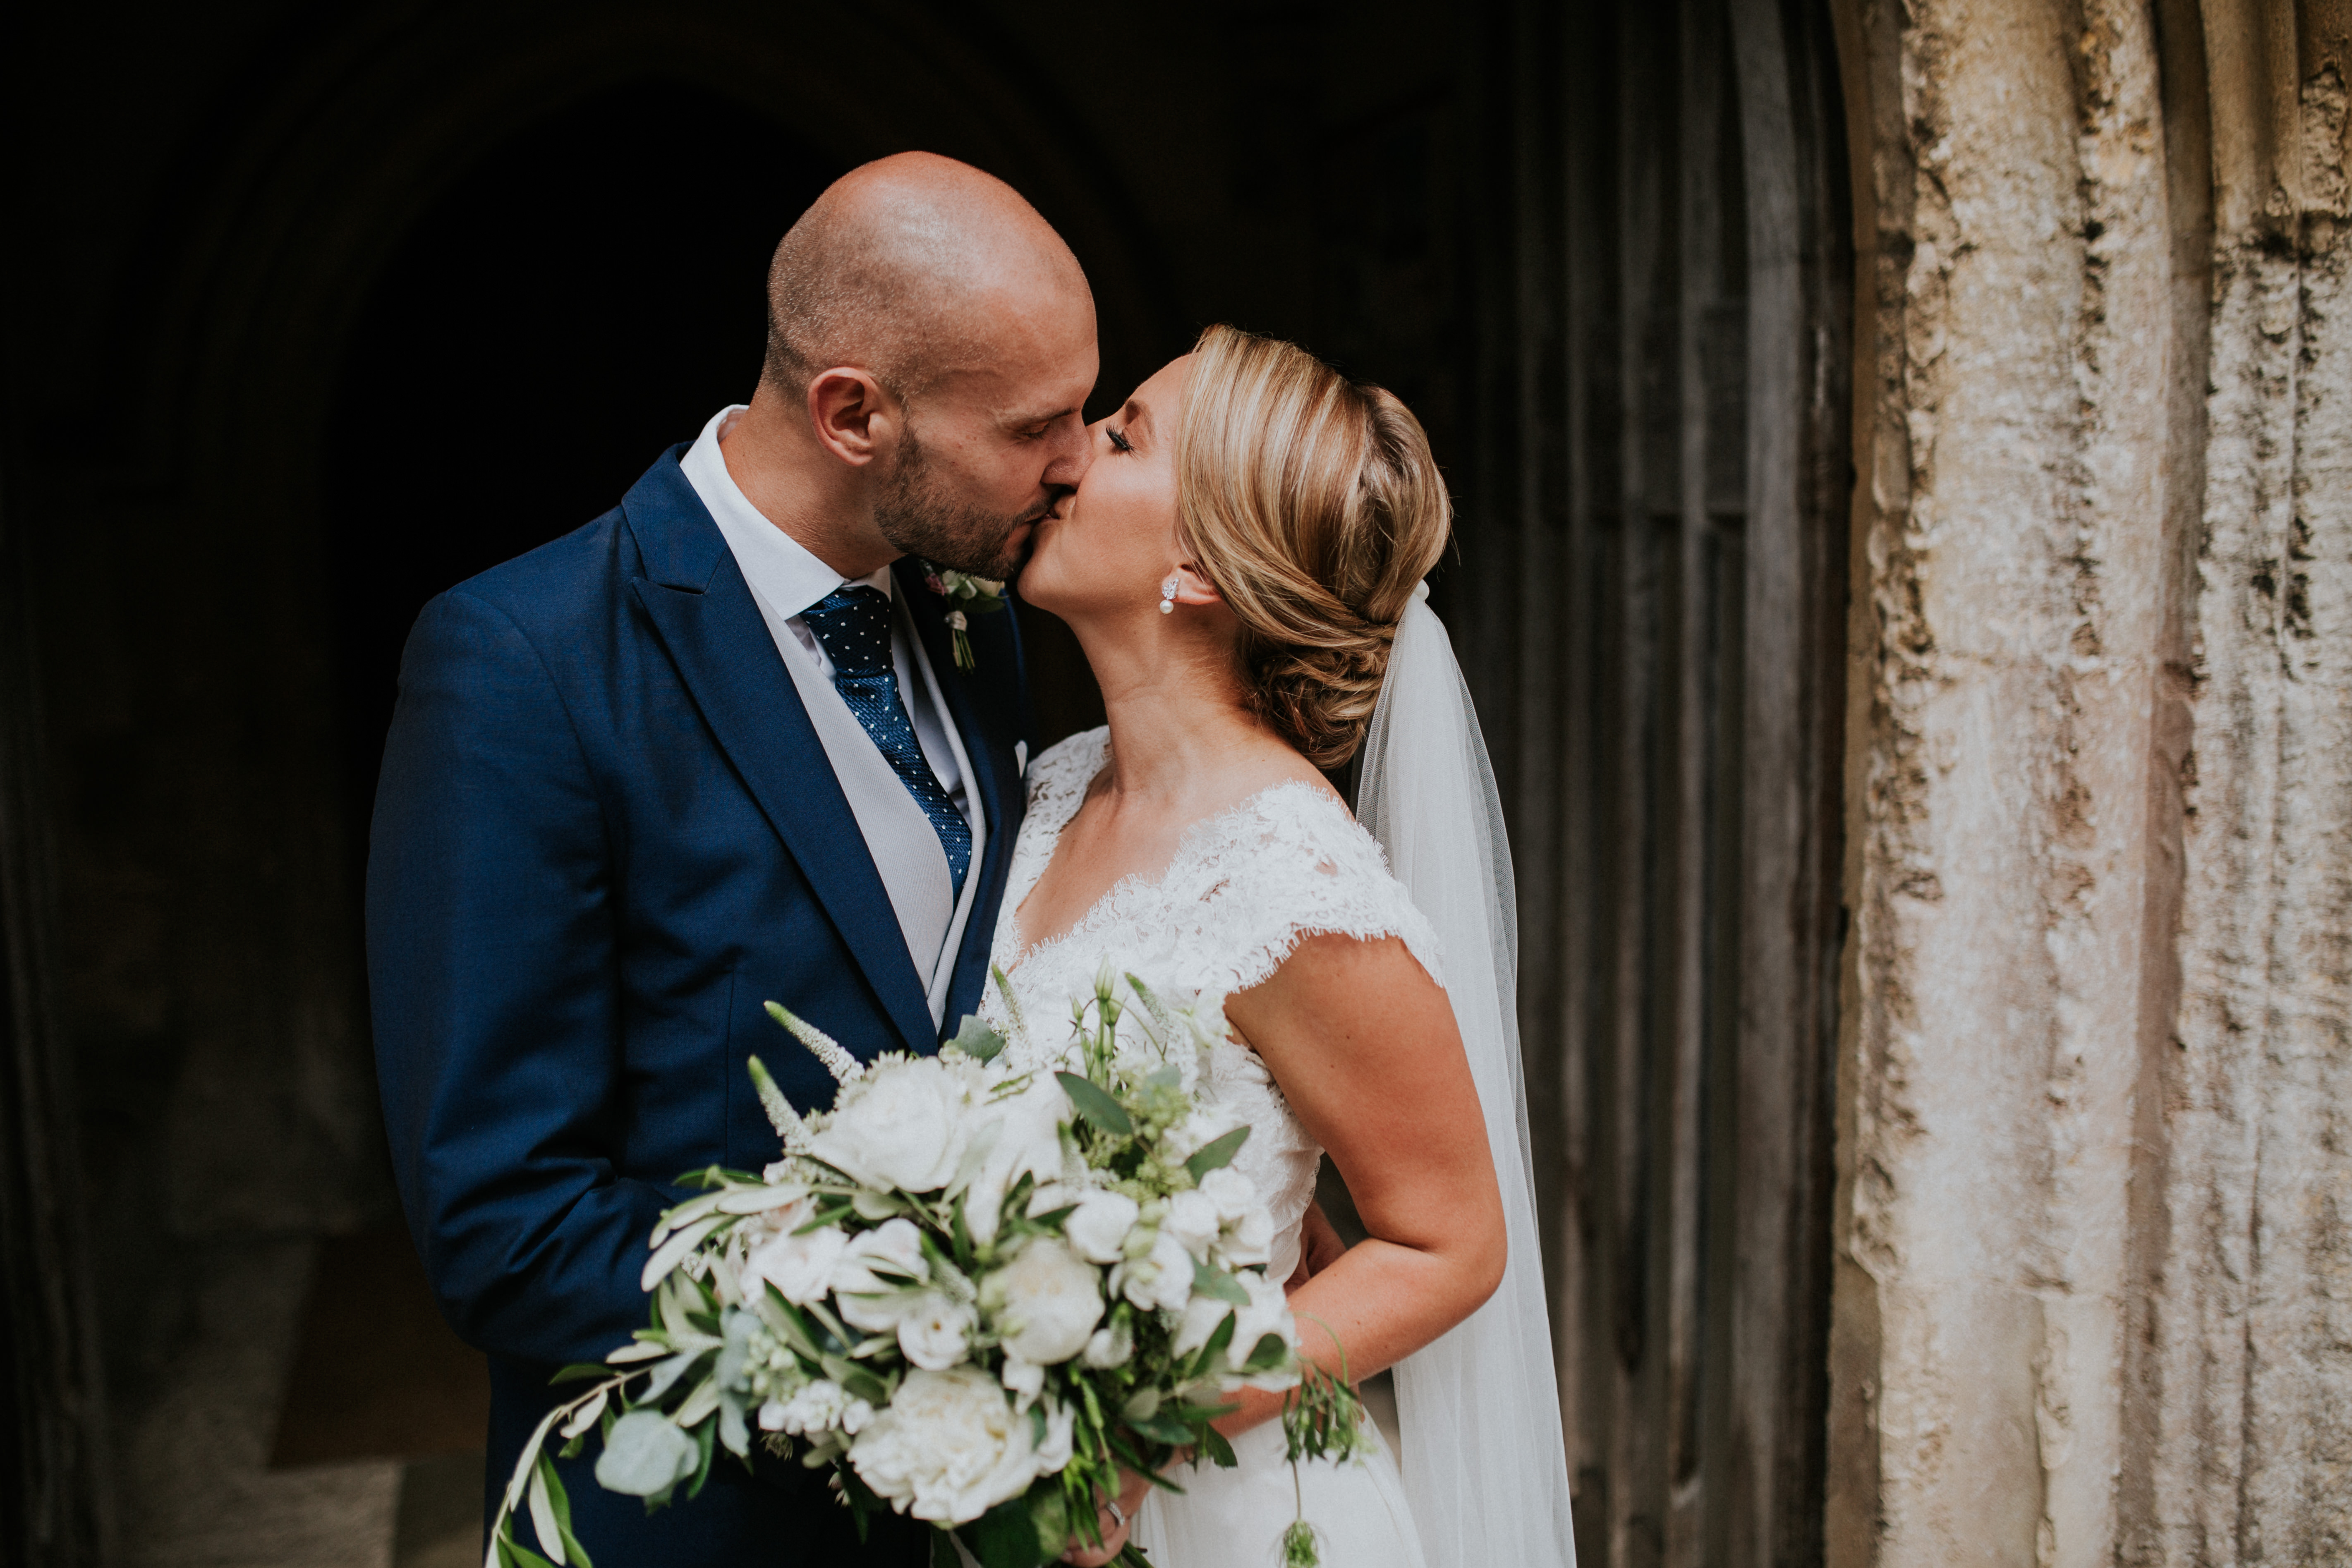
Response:
POLYGON ((1244 1392, 1216 1422, 1237 1469, 1129 1479, 1065 1561, 1134 1535, 1157 1568, 1272 1563, 1303 1505, 1329 1568, 1571 1563, 1510 858, 1421 585, 1451 529, 1428 442, 1388 393, 1230 327, 1091 440, 1021 597, 1077 632, 1110 724, 1028 769, 995 961, 1035 1006, 990 997, 990 1023, 1016 1060, 1058 1053, 1016 1020, 1105 954, 1225 997, 1240 1039, 1204 1084, 1254 1128, 1237 1166, 1287 1232, 1301 1354, 1397 1368, 1402 1453, 1303 1465, 1294 1495, 1282 1396, 1244 1392), (1359 750, 1362 825, 1319 771, 1359 750), (1324 1152, 1369 1239, 1308 1276, 1324 1152))

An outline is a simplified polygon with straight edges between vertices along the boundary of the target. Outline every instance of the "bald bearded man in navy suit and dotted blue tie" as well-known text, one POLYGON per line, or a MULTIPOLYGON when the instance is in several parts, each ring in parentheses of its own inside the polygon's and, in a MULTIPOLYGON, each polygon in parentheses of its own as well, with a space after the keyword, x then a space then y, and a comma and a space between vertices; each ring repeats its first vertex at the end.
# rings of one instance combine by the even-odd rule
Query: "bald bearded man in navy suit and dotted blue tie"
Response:
MULTIPOLYGON (((1014 576, 1087 463, 1094 374, 1087 280, 1028 202, 946 158, 866 165, 776 247, 750 407, 419 616, 367 964, 409 1227, 489 1352, 489 1507, 548 1375, 644 1326, 675 1178, 776 1157, 743 1058, 830 1100, 762 1001, 861 1058, 978 1009, 1021 639, 971 616, 957 668, 922 562, 1014 576)), ((797 1462, 720 1455, 652 1521, 562 1469, 607 1568, 924 1561, 898 1519, 861 1547, 797 1462)))

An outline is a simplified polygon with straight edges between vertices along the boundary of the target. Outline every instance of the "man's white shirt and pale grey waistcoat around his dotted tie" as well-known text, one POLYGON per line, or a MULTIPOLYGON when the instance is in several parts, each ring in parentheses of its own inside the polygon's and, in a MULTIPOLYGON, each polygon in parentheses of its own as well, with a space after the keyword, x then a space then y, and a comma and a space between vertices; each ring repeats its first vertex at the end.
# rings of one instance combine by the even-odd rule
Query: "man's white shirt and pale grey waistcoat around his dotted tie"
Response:
POLYGON ((938 691, 938 672, 931 670, 922 639, 915 637, 908 611, 898 604, 889 567, 856 578, 856 585, 880 588, 891 597, 891 665, 898 675, 898 701, 906 703, 924 762, 931 764, 955 809, 971 823, 971 870, 964 875, 962 896, 957 896, 938 832, 833 686, 833 661, 807 623, 807 611, 816 609, 826 595, 854 583, 771 524, 727 473, 720 437, 741 414, 743 404, 729 404, 713 414, 680 468, 684 468, 687 484, 694 487, 710 520, 720 524, 727 550, 760 607, 760 618, 767 621, 776 656, 783 658, 786 672, 809 710, 809 722, 816 726, 833 773, 849 797, 866 849, 898 914, 908 957, 915 959, 915 973, 929 992, 931 1020, 941 1023, 974 889, 981 884, 981 856, 988 851, 988 823, 978 797, 964 788, 971 776, 969 757, 938 691))

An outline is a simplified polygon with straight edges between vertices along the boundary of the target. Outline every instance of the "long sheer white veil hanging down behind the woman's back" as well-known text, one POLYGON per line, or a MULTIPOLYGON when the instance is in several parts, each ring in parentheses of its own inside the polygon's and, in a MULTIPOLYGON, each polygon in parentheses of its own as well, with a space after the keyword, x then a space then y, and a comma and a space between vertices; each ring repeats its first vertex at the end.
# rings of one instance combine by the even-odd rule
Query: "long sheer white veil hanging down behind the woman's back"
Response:
POLYGON ((1428 583, 1397 625, 1364 738, 1357 820, 1437 926, 1446 994, 1503 1185, 1510 1262, 1470 1319, 1397 1366, 1399 1467, 1430 1568, 1569 1568, 1569 1462, 1552 1375, 1519 1065, 1519 919, 1503 802, 1428 583))

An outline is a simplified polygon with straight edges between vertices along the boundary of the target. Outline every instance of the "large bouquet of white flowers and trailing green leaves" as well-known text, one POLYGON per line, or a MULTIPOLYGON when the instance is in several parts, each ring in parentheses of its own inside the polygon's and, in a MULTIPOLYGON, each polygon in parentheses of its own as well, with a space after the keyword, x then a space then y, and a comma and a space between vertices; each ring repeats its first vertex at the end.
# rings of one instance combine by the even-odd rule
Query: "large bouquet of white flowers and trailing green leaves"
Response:
MULTIPOLYGON (((1181 1450, 1232 1465, 1209 1422, 1240 1387, 1296 1389, 1294 1467, 1355 1453, 1362 1406, 1296 1354, 1265 1276, 1272 1220, 1230 1168, 1249 1128, 1195 1093, 1225 1018, 1134 976, 1124 992, 1141 1011, 1105 964, 1073 999, 1054 1072, 1014 1072, 978 1018, 936 1058, 861 1065, 771 1001, 833 1072, 835 1107, 795 1114, 750 1060, 783 1159, 687 1180, 703 1192, 661 1218, 644 1265, 652 1326, 557 1375, 593 1387, 524 1446, 485 1568, 590 1568, 550 1439, 569 1458, 597 1436, 597 1481, 647 1507, 696 1495, 720 1448, 797 1450, 861 1530, 891 1507, 934 1526, 936 1561, 955 1561, 953 1533, 983 1568, 1096 1540, 1122 1469, 1181 1490, 1164 1474, 1181 1450)), ((1305 1519, 1282 1544, 1315 1561, 1305 1519)), ((1120 1561, 1145 1563, 1134 1544, 1120 1561)))

